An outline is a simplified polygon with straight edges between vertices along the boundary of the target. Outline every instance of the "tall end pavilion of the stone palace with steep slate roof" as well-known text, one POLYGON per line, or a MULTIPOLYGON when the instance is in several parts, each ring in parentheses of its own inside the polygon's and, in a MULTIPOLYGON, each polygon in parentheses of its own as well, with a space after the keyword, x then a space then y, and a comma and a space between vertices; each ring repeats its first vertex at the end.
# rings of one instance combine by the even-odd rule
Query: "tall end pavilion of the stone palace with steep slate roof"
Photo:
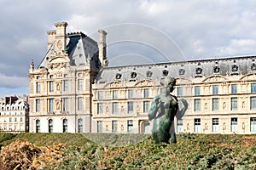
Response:
POLYGON ((35 68, 32 61, 29 70, 29 131, 89 133, 91 83, 103 62, 97 42, 82 32, 66 34, 66 22, 55 27, 48 31, 48 52, 41 64, 35 68))

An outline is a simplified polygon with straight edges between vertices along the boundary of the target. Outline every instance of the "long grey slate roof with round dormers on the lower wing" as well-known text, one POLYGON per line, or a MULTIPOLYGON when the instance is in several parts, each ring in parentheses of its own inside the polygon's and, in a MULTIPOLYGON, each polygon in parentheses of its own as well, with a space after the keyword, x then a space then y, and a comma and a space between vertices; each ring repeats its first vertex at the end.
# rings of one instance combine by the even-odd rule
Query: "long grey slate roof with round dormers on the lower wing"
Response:
POLYGON ((166 76, 193 79, 212 75, 247 75, 253 72, 256 72, 256 56, 239 56, 104 67, 99 71, 96 83, 139 82, 145 79, 157 82, 166 76))

